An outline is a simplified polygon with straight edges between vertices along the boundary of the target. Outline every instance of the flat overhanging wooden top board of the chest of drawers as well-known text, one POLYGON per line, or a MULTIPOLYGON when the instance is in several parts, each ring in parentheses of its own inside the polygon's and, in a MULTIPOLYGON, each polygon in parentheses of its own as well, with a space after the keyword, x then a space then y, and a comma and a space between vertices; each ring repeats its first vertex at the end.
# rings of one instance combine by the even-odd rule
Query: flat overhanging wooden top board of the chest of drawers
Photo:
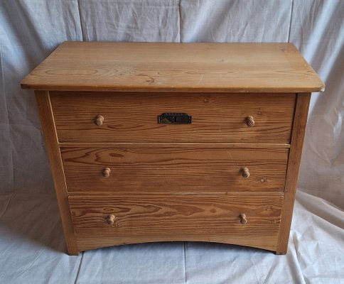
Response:
POLYGON ((323 92, 291 43, 65 42, 21 82, 39 90, 323 92))

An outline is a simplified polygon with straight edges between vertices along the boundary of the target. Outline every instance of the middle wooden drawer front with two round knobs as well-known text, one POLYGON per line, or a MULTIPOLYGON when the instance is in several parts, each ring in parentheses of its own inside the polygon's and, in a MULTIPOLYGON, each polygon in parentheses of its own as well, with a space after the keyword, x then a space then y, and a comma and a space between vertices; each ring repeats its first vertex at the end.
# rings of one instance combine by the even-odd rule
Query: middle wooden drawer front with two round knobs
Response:
POLYGON ((164 195, 284 190, 288 148, 190 145, 61 148, 68 191, 164 195))

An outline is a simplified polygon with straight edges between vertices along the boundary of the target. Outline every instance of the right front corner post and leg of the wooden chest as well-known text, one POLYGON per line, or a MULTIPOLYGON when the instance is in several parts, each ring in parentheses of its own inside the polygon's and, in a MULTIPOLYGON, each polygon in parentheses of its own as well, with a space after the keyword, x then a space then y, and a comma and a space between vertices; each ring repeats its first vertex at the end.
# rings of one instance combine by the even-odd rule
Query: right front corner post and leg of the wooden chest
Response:
POLYGON ((276 254, 285 254, 288 249, 291 217, 293 216, 296 187, 299 178, 303 138, 306 132, 310 93, 301 93, 297 96, 294 117, 291 148, 289 152, 288 170, 286 174, 286 190, 284 194, 283 211, 281 215, 281 231, 276 254))

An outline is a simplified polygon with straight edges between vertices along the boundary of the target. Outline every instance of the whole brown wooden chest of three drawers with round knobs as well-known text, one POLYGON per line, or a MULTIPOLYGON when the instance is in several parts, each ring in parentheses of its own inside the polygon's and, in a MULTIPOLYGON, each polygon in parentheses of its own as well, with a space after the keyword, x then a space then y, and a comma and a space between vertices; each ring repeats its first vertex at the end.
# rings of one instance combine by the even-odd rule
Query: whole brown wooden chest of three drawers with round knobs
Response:
POLYGON ((311 92, 288 43, 60 45, 35 89, 68 253, 216 241, 286 253, 311 92))

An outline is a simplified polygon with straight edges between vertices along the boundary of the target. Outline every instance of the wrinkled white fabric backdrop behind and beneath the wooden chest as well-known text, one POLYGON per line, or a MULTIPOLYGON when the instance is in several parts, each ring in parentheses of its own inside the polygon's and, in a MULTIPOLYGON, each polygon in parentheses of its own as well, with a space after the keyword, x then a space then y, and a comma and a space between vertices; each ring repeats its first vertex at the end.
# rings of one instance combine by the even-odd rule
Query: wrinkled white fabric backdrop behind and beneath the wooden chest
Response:
POLYGON ((0 282, 344 283, 343 17, 340 0, 0 0, 0 282), (294 43, 326 92, 311 100, 289 253, 162 243, 65 255, 36 102, 20 88, 65 40, 294 43))

